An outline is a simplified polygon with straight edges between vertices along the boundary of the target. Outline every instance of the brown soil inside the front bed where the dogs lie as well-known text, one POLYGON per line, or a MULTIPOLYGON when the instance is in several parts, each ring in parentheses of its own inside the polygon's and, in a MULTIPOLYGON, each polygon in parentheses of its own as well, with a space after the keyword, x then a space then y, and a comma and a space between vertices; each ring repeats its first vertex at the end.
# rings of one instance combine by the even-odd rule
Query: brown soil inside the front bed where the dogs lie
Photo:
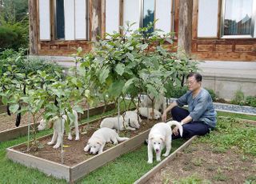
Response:
MULTIPOLYGON (((140 123, 139 130, 131 131, 131 130, 123 130, 120 131, 119 135, 120 137, 128 137, 132 138, 135 135, 142 133, 145 130, 150 129, 156 122, 159 122, 160 120, 150 120, 147 122, 147 119, 142 119, 142 122, 140 123)), ((94 122, 90 124, 86 124, 84 126, 80 126, 80 140, 79 141, 69 141, 67 139, 67 136, 64 137, 64 165, 66 166, 74 166, 78 164, 79 162, 85 161, 88 158, 91 158, 94 155, 90 155, 86 153, 83 149, 86 146, 86 143, 88 142, 88 139, 90 136, 94 133, 95 130, 98 130, 100 125, 100 122, 94 122)), ((74 136, 73 136, 74 138, 74 136)), ((43 145, 43 148, 38 149, 36 152, 30 152, 29 154, 32 154, 38 158, 44 158, 46 160, 50 160, 53 162, 61 163, 61 148, 58 148, 55 150, 53 146, 48 146, 47 142, 50 142, 51 136, 49 138, 45 138, 44 140, 40 141, 40 143, 43 145)), ((108 143, 104 150, 110 149, 110 147, 114 146, 111 143, 108 143)), ((26 153, 26 146, 23 146, 22 148, 17 148, 17 150, 25 152, 26 153)))

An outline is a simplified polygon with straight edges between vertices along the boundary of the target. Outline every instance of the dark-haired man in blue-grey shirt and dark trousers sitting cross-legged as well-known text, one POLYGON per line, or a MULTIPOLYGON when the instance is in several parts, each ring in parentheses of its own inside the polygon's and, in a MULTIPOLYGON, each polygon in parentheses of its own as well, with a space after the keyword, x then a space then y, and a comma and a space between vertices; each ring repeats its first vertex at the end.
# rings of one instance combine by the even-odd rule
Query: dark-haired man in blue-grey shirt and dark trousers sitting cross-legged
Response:
MULTIPOLYGON (((182 97, 172 102, 162 114, 162 121, 166 122, 167 113, 171 110, 174 120, 181 122, 182 138, 194 135, 205 135, 216 126, 216 111, 212 98, 202 86, 202 75, 190 73, 187 76, 189 90, 182 97), (188 110, 179 106, 188 105, 188 110)), ((178 127, 173 130, 173 138, 180 138, 178 127)))

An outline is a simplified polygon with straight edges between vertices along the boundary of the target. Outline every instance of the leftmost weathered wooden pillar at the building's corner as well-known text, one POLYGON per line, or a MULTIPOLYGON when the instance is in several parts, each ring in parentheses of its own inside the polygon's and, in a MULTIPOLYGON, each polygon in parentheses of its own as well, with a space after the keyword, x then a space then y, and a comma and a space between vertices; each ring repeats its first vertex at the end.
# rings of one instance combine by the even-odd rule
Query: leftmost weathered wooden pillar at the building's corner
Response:
POLYGON ((38 5, 36 0, 29 2, 29 27, 30 27, 30 54, 38 54, 38 5))

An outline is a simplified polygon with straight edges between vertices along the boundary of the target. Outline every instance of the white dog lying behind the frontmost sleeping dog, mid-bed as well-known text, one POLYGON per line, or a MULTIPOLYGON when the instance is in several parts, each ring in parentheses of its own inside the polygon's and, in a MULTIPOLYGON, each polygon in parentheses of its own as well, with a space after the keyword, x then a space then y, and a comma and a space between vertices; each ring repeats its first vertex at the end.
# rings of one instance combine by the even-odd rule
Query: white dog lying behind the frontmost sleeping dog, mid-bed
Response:
MULTIPOLYGON (((142 122, 142 119, 139 118, 139 121, 142 122)), ((104 118, 101 122, 100 127, 107 127, 110 129, 118 130, 136 130, 139 128, 139 122, 137 114, 134 111, 126 111, 124 114, 124 118, 120 116, 119 118, 119 126, 118 126, 118 116, 104 118)))

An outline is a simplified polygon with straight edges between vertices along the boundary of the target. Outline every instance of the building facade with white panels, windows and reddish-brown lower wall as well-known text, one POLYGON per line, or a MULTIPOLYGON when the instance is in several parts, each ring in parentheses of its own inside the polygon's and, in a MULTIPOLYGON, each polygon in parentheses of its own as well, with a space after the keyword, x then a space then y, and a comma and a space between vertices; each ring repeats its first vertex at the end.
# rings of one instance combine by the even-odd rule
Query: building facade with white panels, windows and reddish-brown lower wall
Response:
MULTIPOLYGON (((186 0, 188 1, 188 0, 186 0)), ((105 33, 119 32, 126 21, 134 29, 158 19, 155 29, 179 30, 198 59, 218 61, 256 60, 255 0, 193 0, 188 4, 187 25, 179 27, 184 0, 30 0, 30 47, 32 54, 69 55, 105 33), (32 10, 35 10, 32 12, 32 10), (33 47, 34 46, 34 47, 33 47), (34 51, 33 51, 34 50, 34 51)), ((179 44, 178 44, 179 45, 179 44)))

